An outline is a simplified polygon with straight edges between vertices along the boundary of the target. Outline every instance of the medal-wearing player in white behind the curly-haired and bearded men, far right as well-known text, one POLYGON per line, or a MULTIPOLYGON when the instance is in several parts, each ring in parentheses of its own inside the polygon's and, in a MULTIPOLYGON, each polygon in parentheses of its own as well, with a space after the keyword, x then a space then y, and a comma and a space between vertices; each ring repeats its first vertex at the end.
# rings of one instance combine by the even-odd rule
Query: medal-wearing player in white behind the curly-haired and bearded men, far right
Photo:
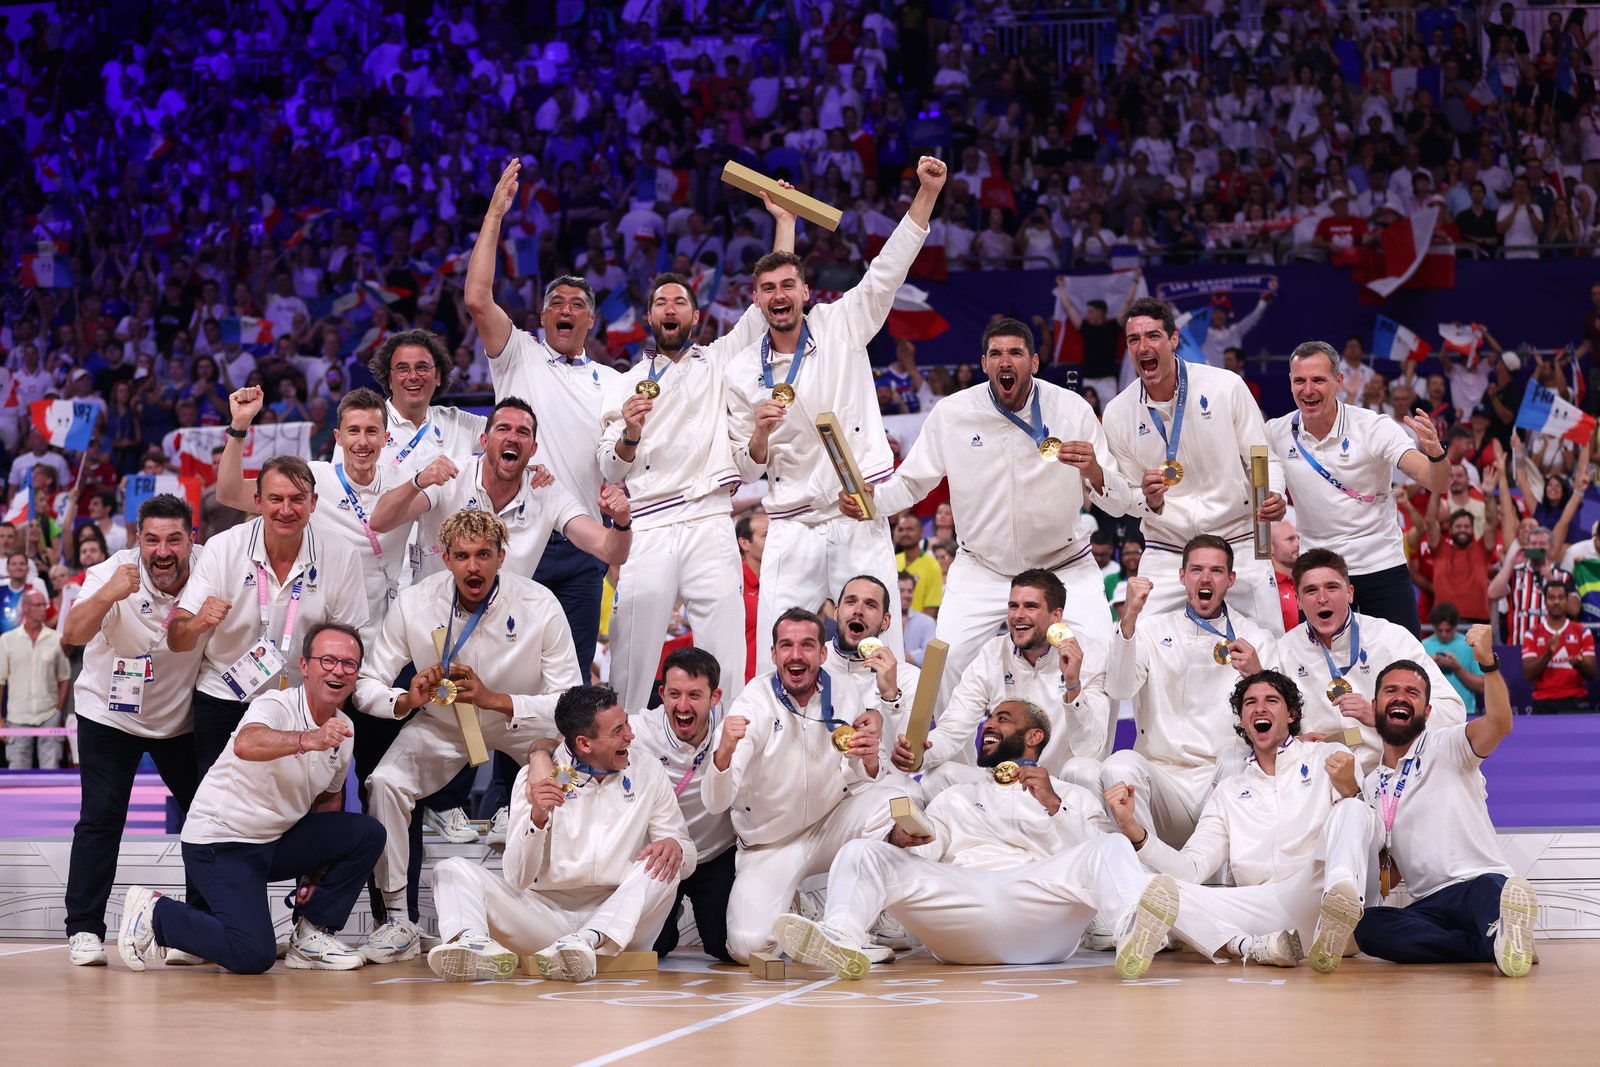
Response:
POLYGON ((1434 689, 1434 726, 1467 720, 1467 705, 1456 694, 1422 641, 1405 627, 1376 619, 1352 606, 1344 558, 1328 549, 1302 552, 1294 563, 1306 621, 1278 643, 1283 673, 1306 694, 1306 729, 1323 734, 1360 726, 1362 744, 1352 745, 1362 774, 1378 766, 1381 745, 1373 720, 1373 683, 1381 664, 1411 659, 1424 664, 1434 689))

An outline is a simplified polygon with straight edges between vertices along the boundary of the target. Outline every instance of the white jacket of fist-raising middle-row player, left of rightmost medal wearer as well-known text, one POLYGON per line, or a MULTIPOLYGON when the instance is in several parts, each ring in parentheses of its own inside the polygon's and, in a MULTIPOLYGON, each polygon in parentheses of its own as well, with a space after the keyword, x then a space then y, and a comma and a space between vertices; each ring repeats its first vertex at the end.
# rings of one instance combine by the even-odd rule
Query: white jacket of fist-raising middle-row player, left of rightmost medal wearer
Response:
MULTIPOLYGON (((1278 667, 1277 638, 1242 614, 1227 613, 1227 619, 1234 637, 1254 646, 1264 669, 1278 667)), ((1211 625, 1227 633, 1227 619, 1219 616, 1211 625)), ((1122 627, 1110 638, 1106 693, 1133 701, 1133 750, 1192 790, 1208 789, 1218 760, 1245 744, 1234 733, 1238 720, 1229 704, 1243 675, 1216 662, 1219 640, 1182 611, 1141 614, 1131 640, 1122 627)))

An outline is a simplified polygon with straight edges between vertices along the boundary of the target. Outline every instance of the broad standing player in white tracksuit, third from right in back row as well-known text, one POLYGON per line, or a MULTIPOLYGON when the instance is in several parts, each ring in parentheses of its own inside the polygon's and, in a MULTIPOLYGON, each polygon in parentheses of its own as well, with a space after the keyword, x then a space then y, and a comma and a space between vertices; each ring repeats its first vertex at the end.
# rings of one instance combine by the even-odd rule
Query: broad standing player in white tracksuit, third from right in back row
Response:
MULTIPOLYGON (((1088 403, 1034 379, 1038 354, 1027 325, 990 323, 982 347, 989 384, 946 397, 874 494, 880 512, 894 514, 950 482, 962 547, 939 603, 938 635, 950 645, 944 693, 1005 622, 1011 576, 1029 568, 1053 571, 1067 589, 1064 621, 1080 640, 1106 645, 1106 589, 1078 514, 1094 504, 1122 515, 1131 494, 1088 403)), ((842 507, 850 514, 853 504, 842 507)))

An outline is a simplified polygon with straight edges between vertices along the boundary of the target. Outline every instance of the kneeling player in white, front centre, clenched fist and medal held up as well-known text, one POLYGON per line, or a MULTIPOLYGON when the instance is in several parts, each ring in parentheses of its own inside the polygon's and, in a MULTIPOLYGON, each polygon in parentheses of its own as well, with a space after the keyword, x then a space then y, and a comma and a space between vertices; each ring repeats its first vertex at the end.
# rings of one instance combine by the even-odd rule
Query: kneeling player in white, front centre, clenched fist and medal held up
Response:
POLYGON ((882 784, 882 717, 862 707, 856 685, 822 672, 822 619, 790 608, 773 629, 773 673, 757 675, 717 728, 706 809, 733 811, 738 875, 728 897, 728 955, 747 963, 773 947, 773 920, 810 875, 827 872, 838 848, 883 837, 890 801, 882 784), (853 726, 835 745, 832 734, 853 726))

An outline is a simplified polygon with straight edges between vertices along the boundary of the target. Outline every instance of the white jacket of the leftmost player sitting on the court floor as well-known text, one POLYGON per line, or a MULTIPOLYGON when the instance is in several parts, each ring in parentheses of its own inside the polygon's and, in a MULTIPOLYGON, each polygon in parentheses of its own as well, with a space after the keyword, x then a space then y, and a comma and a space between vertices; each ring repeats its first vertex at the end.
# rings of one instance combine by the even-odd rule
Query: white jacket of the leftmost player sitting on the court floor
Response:
MULTIPOLYGON (((566 745, 558 745, 552 760, 557 766, 578 766, 566 745)), ((579 774, 578 789, 550 811, 542 830, 533 825, 528 768, 522 768, 510 787, 501 865, 506 881, 518 889, 610 888, 622 885, 646 845, 666 838, 683 849, 678 878, 688 878, 699 862, 694 838, 667 773, 654 760, 629 760, 627 768, 605 777, 579 774)))

